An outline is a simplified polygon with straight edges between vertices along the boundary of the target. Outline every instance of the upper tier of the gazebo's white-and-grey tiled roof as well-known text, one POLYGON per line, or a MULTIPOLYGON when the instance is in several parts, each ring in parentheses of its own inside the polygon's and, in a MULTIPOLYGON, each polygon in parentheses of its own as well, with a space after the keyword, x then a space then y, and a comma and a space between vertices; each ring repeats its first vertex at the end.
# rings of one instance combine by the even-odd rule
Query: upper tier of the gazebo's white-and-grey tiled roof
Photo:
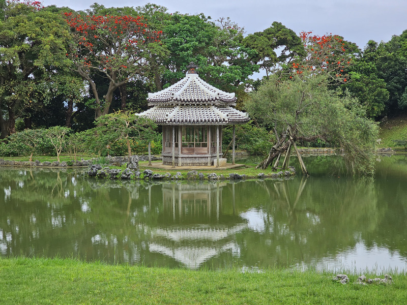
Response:
POLYGON ((197 103, 234 105, 236 100, 234 93, 227 93, 211 86, 199 78, 196 73, 187 73, 186 77, 178 83, 157 93, 149 93, 147 98, 150 106, 197 103))

